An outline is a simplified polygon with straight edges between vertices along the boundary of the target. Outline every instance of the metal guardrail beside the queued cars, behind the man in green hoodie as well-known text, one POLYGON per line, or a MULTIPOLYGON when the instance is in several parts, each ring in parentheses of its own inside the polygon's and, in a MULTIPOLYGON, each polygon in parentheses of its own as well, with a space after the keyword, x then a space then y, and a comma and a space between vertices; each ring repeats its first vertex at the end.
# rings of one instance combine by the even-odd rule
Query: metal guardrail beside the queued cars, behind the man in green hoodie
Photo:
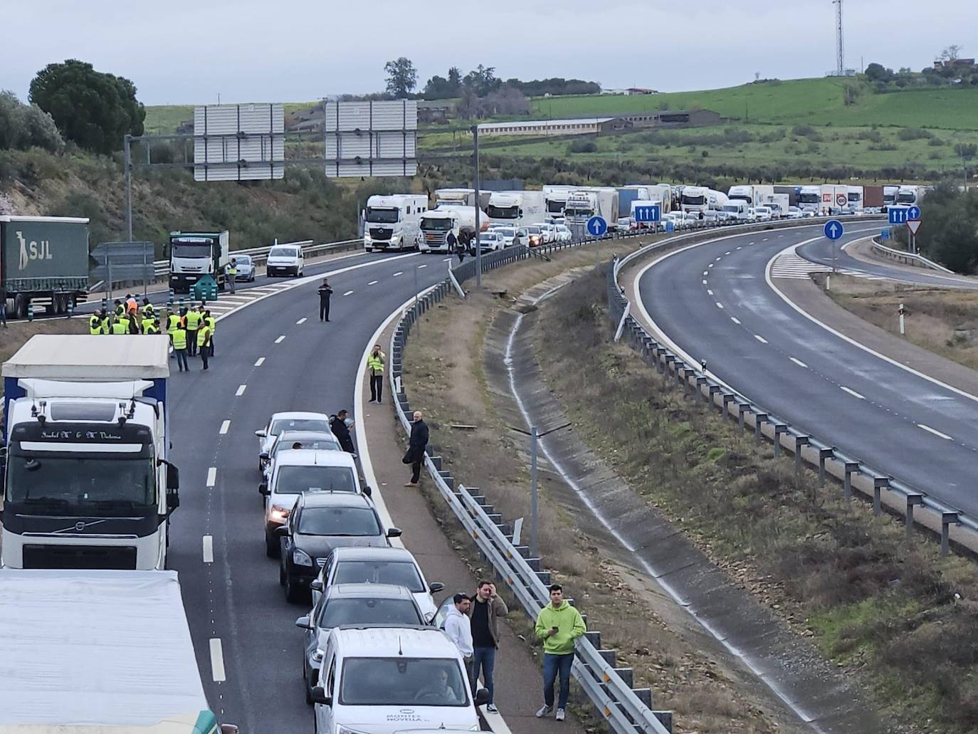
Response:
MULTIPOLYGON (((582 244, 584 243, 555 245, 552 250, 579 247, 582 244)), ((537 250, 539 249, 534 248, 534 251, 537 250)), ((529 250, 522 246, 489 252, 482 258, 482 267, 488 271, 511 262, 526 260, 530 256, 529 250)), ((467 280, 474 276, 474 263, 463 263, 453 273, 460 281, 467 280), (469 269, 470 272, 466 272, 469 269)), ((391 392, 396 397, 398 418, 408 433, 410 423, 407 412, 411 410, 411 406, 402 384, 404 347, 412 325, 428 308, 445 298, 452 290, 450 280, 445 280, 420 294, 418 300, 405 310, 391 337, 391 392)), ((493 513, 486 498, 477 494, 476 489, 456 483, 450 473, 442 469, 441 457, 428 454, 424 464, 438 493, 455 513, 469 537, 492 564, 496 573, 506 580, 524 612, 530 618, 536 619, 540 610, 550 601, 550 592, 545 584, 545 579, 549 582, 550 573, 533 568, 531 563, 538 564, 539 559, 529 559, 528 548, 513 545, 511 528, 502 522, 501 516, 493 513)), ((600 645, 600 632, 589 631, 585 637, 577 640, 572 674, 604 720, 618 734, 669 734, 671 711, 652 711, 651 691, 633 690, 622 677, 623 674, 631 677, 631 669, 615 668, 608 660, 614 660, 614 651, 600 650, 595 642, 600 645)))

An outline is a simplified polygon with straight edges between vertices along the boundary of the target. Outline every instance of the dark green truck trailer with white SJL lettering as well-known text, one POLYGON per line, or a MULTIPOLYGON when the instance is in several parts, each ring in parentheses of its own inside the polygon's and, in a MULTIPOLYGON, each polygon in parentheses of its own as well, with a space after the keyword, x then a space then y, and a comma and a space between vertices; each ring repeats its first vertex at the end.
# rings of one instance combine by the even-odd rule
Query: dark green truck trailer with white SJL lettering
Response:
POLYGON ((25 318, 31 302, 67 313, 88 296, 88 219, 0 216, 0 286, 25 318))

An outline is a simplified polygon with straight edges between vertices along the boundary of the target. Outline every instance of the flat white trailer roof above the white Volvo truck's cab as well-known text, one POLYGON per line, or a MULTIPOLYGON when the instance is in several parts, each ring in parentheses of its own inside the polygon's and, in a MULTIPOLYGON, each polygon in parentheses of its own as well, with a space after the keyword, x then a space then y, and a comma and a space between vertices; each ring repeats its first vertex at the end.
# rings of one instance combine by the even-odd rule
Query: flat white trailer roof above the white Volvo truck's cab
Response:
POLYGON ((170 375, 166 335, 37 334, 3 364, 3 377, 123 382, 170 375))

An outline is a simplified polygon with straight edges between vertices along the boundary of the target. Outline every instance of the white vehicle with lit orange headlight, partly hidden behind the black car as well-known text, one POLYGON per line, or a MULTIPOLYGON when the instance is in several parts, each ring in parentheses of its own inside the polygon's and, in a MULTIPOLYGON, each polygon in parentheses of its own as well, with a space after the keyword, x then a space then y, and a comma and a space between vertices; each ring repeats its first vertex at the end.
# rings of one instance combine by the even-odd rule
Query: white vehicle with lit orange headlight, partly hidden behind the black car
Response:
POLYGON ((275 457, 271 482, 261 482, 265 497, 265 553, 277 558, 281 542, 276 533, 289 520, 292 507, 305 492, 352 492, 372 494, 361 486, 353 455, 345 451, 287 449, 275 457))

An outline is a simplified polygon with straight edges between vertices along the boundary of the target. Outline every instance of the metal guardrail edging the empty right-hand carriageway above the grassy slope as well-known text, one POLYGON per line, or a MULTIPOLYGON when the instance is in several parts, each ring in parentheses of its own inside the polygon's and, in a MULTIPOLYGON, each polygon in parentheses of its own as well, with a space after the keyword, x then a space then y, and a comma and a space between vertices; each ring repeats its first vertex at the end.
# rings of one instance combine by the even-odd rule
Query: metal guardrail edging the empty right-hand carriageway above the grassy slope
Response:
MULTIPOLYGON (((811 222, 805 222, 805 224, 811 224, 811 222)), ((745 227, 744 229, 751 228, 745 227)), ((817 437, 799 431, 787 421, 778 418, 767 408, 752 402, 739 392, 730 390, 727 386, 720 385, 706 374, 700 365, 687 363, 681 355, 672 351, 669 346, 657 342, 645 331, 645 327, 634 316, 625 313, 626 308, 630 307, 631 304, 618 284, 618 275, 625 265, 644 256, 647 252, 684 241, 695 242, 701 238, 701 235, 686 235, 653 243, 617 260, 614 266, 608 270, 607 299, 611 320, 616 326, 621 322, 624 323, 625 333, 629 336, 630 344, 642 353, 645 362, 653 366, 656 372, 662 374, 663 377, 672 373, 684 391, 691 388, 694 390, 694 394, 701 396, 705 402, 719 408, 723 415, 736 420, 741 432, 744 430, 745 417, 749 416, 754 424, 755 442, 759 442, 762 436, 772 439, 776 456, 780 453, 781 436, 785 436, 785 440, 789 442, 790 448, 793 450, 797 471, 800 471, 801 463, 806 462, 817 469, 820 480, 824 482, 826 463, 832 462, 835 471, 841 474, 847 498, 852 492, 852 476, 854 474, 871 479, 875 515, 882 512, 880 497, 884 489, 896 492, 906 499, 905 517, 908 532, 913 528, 914 507, 924 507, 933 511, 941 519, 942 555, 946 555, 949 550, 951 526, 963 526, 969 530, 978 531, 978 519, 928 495, 925 491, 890 477, 885 472, 869 466, 856 457, 839 451, 834 444, 825 440, 825 436, 817 437), (732 404, 736 407, 735 413, 730 407, 732 404), (769 427, 770 430, 765 431, 765 426, 769 427), (806 448, 808 449, 807 456, 805 455, 806 448)))

